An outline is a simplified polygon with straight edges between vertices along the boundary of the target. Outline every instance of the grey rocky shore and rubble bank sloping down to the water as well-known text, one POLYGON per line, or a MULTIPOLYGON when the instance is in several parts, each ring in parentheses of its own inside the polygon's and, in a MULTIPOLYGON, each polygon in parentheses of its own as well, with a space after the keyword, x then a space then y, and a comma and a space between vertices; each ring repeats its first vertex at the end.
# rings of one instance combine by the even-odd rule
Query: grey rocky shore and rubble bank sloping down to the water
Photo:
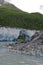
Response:
POLYGON ((29 42, 16 42, 8 44, 9 51, 19 54, 43 56, 43 31, 36 31, 29 42))

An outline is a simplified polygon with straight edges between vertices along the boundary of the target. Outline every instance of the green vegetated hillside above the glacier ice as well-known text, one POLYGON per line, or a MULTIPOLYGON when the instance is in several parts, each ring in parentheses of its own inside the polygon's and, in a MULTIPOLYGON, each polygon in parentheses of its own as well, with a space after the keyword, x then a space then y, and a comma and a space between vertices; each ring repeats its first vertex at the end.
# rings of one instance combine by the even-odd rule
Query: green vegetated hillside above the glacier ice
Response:
POLYGON ((11 6, 0 6, 0 25, 43 30, 43 15, 26 13, 11 6))

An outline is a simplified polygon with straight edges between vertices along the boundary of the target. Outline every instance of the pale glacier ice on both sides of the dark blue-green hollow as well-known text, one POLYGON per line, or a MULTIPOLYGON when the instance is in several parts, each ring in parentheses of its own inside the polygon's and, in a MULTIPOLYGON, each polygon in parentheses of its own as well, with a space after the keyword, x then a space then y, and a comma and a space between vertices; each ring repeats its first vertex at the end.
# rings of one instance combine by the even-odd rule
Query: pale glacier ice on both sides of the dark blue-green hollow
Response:
MULTIPOLYGON (((22 29, 0 27, 0 41, 16 40, 19 36, 20 30, 22 29)), ((29 36, 32 36, 35 33, 35 31, 31 31, 31 30, 26 30, 26 31, 29 36)))

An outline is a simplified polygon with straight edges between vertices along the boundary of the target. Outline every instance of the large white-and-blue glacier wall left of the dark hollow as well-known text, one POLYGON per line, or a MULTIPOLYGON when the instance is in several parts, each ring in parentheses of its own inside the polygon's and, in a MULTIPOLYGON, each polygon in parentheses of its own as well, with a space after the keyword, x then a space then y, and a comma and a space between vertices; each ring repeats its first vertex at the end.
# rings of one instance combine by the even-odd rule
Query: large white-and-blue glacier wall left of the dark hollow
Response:
POLYGON ((14 40, 17 39, 19 35, 19 29, 15 28, 0 28, 0 40, 14 40))

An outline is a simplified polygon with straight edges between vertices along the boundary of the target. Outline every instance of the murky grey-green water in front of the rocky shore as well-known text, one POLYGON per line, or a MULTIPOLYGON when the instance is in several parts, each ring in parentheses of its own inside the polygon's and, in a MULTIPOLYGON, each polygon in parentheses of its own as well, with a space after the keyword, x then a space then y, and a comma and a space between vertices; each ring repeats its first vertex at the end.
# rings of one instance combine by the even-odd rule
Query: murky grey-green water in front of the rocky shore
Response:
MULTIPOLYGON (((0 44, 4 43, 7 42, 0 42, 0 44)), ((9 49, 2 45, 0 46, 0 65, 43 65, 43 57, 9 52, 9 49)))

